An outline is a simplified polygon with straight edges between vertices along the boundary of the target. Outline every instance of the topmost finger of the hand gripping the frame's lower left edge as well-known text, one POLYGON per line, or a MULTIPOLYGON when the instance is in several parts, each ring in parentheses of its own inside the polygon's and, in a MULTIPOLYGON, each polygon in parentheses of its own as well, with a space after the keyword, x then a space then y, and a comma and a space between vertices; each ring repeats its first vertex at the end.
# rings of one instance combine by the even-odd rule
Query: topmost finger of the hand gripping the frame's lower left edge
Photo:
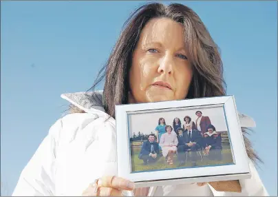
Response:
POLYGON ((134 183, 117 176, 104 176, 98 180, 98 187, 113 187, 114 189, 133 190, 134 183))

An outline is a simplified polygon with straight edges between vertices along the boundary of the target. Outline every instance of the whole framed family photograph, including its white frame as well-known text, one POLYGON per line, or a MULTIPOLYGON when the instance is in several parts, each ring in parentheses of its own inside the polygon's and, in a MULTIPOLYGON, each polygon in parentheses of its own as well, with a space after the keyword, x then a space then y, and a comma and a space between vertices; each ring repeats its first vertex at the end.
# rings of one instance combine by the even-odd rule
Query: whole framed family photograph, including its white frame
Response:
POLYGON ((250 178, 234 96, 116 105, 118 176, 138 187, 250 178))

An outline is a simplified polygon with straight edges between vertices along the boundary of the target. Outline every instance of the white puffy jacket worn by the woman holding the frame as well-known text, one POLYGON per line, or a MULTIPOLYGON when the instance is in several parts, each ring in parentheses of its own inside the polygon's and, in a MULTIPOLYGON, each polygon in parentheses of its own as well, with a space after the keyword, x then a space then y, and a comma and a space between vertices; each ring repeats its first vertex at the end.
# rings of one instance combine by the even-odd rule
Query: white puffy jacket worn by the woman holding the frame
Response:
MULTIPOLYGON (((68 114, 50 128, 39 148, 23 169, 12 196, 81 196, 96 178, 117 175, 116 127, 102 106, 83 93, 62 98, 86 113, 68 114), (93 105, 93 106, 92 106, 93 105)), ((240 116, 242 127, 255 123, 240 116)), ((242 193, 215 191, 210 185, 167 185, 155 196, 268 196, 250 161, 252 178, 239 180, 242 193)))

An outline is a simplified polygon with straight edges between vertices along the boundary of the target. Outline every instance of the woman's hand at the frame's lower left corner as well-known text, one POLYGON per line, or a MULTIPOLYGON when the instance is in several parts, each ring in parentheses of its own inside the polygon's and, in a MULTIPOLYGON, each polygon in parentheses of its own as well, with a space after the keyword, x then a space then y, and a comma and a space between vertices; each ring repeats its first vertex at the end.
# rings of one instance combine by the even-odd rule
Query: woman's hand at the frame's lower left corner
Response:
POLYGON ((122 196, 122 190, 133 190, 133 182, 118 176, 103 176, 90 184, 82 196, 122 196))

